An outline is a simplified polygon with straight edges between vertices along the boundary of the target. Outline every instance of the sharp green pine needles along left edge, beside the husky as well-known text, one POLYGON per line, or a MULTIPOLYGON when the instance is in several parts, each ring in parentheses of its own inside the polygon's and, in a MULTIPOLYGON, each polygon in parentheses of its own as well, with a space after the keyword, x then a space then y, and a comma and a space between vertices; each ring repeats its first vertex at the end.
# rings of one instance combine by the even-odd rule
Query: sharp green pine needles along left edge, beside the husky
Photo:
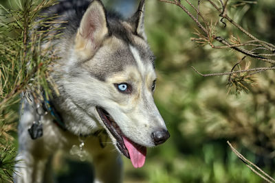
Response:
POLYGON ((11 132, 16 131, 19 94, 32 92, 41 100, 41 91, 51 95, 54 84, 49 72, 56 56, 51 46, 58 28, 51 23, 56 15, 39 15, 53 0, 17 0, 12 10, 0 5, 0 179, 12 181, 13 158, 16 155, 11 132), (36 29, 43 25, 45 29, 36 29), (30 34, 31 32, 31 34, 30 34))

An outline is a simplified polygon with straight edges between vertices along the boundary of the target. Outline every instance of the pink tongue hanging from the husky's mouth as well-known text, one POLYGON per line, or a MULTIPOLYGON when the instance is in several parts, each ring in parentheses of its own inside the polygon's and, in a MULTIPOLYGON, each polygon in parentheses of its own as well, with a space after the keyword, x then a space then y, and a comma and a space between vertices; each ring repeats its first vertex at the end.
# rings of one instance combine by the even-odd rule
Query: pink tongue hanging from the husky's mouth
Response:
POLYGON ((143 166, 146 158, 146 147, 137 145, 123 136, 123 141, 129 151, 130 159, 133 167, 140 168, 143 166))

